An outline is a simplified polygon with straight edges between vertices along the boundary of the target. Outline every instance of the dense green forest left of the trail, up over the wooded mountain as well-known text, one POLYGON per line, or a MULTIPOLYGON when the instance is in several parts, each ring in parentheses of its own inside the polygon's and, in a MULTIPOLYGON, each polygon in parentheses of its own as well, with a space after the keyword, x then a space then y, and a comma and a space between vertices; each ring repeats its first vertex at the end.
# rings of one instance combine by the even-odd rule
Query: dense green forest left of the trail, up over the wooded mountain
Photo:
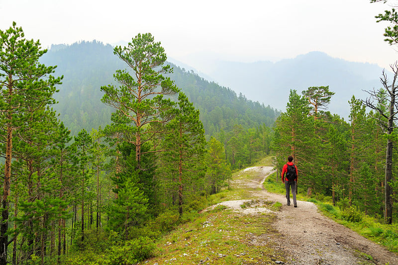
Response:
POLYGON ((278 111, 171 68, 151 34, 53 48, 57 67, 1 31, 0 264, 136 263, 270 153, 278 111))

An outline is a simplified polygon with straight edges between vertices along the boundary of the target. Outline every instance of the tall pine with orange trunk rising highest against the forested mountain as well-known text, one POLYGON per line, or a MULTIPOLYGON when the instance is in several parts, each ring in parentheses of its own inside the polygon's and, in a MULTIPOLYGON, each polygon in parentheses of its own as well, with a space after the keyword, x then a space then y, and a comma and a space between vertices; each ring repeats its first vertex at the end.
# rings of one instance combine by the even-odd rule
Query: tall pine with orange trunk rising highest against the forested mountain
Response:
POLYGON ((167 59, 164 48, 160 42, 154 42, 150 33, 138 34, 127 47, 115 47, 113 53, 127 64, 129 70, 117 70, 113 75, 120 87, 101 87, 105 93, 101 100, 127 119, 128 123, 124 124, 134 138, 123 140, 135 145, 137 167, 141 168, 142 145, 151 141, 156 149, 161 126, 171 119, 168 111, 174 103, 164 96, 174 95, 179 89, 170 78, 162 75, 172 73, 172 69, 169 65, 164 66, 167 59))

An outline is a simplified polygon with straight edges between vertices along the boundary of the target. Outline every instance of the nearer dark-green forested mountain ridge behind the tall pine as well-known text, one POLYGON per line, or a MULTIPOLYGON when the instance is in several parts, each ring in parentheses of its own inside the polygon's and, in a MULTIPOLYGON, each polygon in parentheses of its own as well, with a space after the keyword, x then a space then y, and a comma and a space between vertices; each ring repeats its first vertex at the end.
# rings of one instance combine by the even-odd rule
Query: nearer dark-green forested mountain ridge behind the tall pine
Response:
MULTIPOLYGON (((112 109, 100 98, 101 86, 114 84, 113 74, 126 66, 113 54, 110 45, 101 42, 80 42, 72 45, 53 45, 40 59, 45 65, 57 65, 56 75, 64 75, 63 84, 54 98, 59 103, 54 109, 60 119, 77 134, 82 128, 104 127, 110 124, 112 109)), ((277 110, 259 102, 239 96, 230 89, 208 82, 194 72, 185 71, 173 64, 170 78, 200 110, 207 135, 221 129, 231 130, 236 124, 244 127, 272 126, 279 115, 277 110)))

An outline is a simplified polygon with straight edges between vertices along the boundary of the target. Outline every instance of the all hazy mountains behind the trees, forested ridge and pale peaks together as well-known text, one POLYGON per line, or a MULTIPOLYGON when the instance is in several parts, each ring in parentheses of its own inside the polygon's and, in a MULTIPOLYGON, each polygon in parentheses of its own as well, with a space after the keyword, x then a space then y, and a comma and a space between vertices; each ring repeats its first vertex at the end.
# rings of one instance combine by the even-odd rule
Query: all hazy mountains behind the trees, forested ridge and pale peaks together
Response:
MULTIPOLYGON (((321 52, 275 63, 218 61, 205 74, 171 58, 168 61, 175 68, 170 77, 200 110, 208 135, 230 130, 234 124, 271 126, 279 110, 285 110, 290 89, 300 93, 313 86, 328 85, 336 93, 328 110, 348 120, 352 95, 365 99, 362 89, 379 88, 383 71, 374 64, 348 62, 321 52)), ((64 75, 55 95, 60 103, 54 108, 73 133, 109 124, 113 110, 100 101, 100 87, 114 83, 116 69, 126 68, 111 45, 97 41, 53 45, 41 62, 57 65, 56 75, 64 75)))

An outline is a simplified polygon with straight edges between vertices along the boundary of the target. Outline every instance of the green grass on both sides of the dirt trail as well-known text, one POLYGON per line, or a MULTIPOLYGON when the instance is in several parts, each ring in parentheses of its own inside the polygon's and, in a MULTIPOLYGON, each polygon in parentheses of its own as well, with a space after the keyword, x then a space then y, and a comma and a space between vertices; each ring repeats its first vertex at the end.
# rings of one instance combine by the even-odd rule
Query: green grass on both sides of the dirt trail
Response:
MULTIPOLYGON (((271 158, 265 158, 254 166, 272 166, 271 158)), ((236 172, 234 181, 250 180, 253 172, 236 172)), ((279 177, 272 174, 264 183, 265 188, 274 193, 284 194, 279 177)), ((230 190, 210 197, 211 205, 222 201, 252 199, 247 190, 232 187, 230 190)), ((315 202, 327 216, 353 229, 363 236, 387 246, 390 251, 398 252, 397 228, 376 222, 363 215, 360 222, 348 222, 342 219, 342 211, 328 202, 320 202, 298 193, 298 199, 315 202)), ((271 210, 278 210, 281 205, 266 203, 271 210)), ((242 208, 245 205, 242 205, 242 208)), ((275 264, 286 262, 284 253, 272 243, 278 232, 272 228, 275 218, 273 213, 261 215, 242 215, 217 206, 214 210, 202 212, 199 218, 181 225, 169 235, 163 237, 157 245, 155 257, 146 264, 275 264)))

